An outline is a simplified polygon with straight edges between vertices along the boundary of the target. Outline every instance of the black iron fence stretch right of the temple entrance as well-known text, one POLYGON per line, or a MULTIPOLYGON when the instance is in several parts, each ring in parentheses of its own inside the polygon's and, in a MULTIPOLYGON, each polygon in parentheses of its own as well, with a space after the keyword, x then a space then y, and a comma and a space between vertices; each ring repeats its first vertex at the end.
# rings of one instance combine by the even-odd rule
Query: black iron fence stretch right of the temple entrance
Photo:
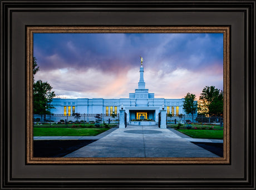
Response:
POLYGON ((167 114, 166 124, 169 127, 179 126, 179 128, 223 129, 223 117, 203 115, 192 117, 184 114, 170 116, 167 114))

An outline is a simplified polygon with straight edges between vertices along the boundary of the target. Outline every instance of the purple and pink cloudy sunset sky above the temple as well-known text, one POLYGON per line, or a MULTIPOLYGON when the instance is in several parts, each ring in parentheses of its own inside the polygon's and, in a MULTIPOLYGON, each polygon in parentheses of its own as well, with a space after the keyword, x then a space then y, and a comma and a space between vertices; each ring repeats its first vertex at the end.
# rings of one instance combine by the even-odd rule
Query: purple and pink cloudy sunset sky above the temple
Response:
POLYGON ((129 98, 144 81, 155 98, 199 98, 205 86, 223 90, 222 33, 36 33, 34 57, 57 97, 129 98))

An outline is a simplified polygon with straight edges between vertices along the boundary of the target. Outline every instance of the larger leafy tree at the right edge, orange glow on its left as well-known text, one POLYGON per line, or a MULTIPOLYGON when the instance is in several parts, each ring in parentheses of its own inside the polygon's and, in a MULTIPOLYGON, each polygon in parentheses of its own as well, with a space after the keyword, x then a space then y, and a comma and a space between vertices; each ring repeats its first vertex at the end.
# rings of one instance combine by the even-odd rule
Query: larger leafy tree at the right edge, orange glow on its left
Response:
POLYGON ((209 116, 223 115, 223 91, 215 88, 215 86, 205 86, 199 98, 205 102, 205 107, 208 108, 209 116))

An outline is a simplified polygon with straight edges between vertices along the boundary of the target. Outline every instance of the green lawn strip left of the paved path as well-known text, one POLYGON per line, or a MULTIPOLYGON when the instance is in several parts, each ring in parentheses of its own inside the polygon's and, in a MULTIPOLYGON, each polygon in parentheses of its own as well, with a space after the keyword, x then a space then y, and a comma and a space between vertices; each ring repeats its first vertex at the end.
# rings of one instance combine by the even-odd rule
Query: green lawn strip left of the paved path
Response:
POLYGON ((108 128, 33 128, 34 136, 96 136, 108 128))

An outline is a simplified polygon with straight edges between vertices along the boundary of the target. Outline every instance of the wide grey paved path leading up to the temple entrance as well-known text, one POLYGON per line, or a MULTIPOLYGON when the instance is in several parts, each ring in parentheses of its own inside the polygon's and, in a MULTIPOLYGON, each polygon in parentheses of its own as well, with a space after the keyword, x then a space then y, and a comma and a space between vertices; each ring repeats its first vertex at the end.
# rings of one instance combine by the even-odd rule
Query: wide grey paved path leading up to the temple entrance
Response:
POLYGON ((157 126, 128 126, 65 157, 219 157, 183 137, 157 126))

